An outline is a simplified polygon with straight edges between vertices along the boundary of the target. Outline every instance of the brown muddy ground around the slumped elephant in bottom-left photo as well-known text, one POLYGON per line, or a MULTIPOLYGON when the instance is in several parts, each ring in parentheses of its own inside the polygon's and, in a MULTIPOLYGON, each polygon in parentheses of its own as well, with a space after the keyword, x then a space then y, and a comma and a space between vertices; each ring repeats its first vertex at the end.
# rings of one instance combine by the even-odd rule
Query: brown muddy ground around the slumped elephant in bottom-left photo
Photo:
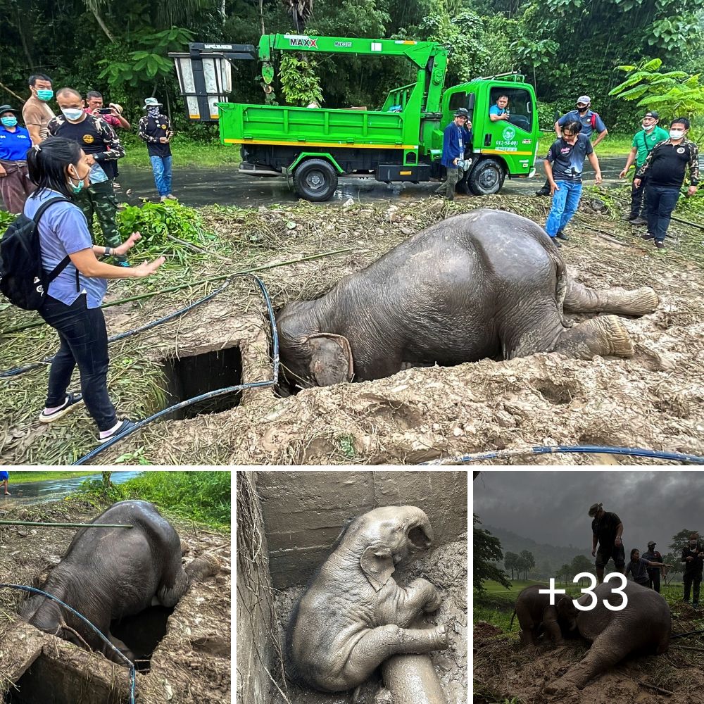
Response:
MULTIPOLYGON (((84 501, 44 503, 10 508, 4 520, 81 522, 101 510, 84 501)), ((168 630, 151 658, 151 671, 137 673, 140 704, 222 704, 230 700, 230 537, 208 532, 184 520, 173 520, 188 546, 184 563, 203 553, 217 556, 221 569, 194 586, 168 619, 168 630)), ((74 529, 0 527, 0 582, 39 586, 68 547, 74 529)), ((19 591, 0 589, 0 693, 34 658, 63 677, 66 701, 72 704, 123 704, 127 670, 102 655, 88 653, 19 620, 19 591), (66 679, 68 678, 68 679, 66 679), (73 678, 73 679, 72 679, 73 678)), ((39 675, 42 676, 40 671, 39 675)), ((60 687, 56 684, 55 688, 60 687)), ((37 704, 39 702, 37 701, 37 704)))

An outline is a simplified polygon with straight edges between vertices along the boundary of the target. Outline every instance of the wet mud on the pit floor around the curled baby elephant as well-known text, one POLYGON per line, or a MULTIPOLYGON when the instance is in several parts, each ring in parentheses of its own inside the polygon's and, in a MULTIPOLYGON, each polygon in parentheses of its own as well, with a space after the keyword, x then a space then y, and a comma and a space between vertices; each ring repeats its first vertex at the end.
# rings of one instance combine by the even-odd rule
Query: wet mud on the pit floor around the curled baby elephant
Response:
MULTIPOLYGON (((434 670, 441 683, 448 704, 467 704, 467 541, 457 541, 439 546, 427 555, 418 555, 415 561, 403 567, 398 565, 394 580, 405 586, 417 577, 424 577, 435 584, 443 602, 432 622, 448 626, 450 647, 430 654, 434 670)), ((289 615, 302 587, 292 587, 279 593, 276 603, 279 628, 286 630, 289 615)), ((285 691, 290 704, 389 704, 390 692, 384 689, 380 673, 371 677, 353 698, 352 692, 325 694, 303 689, 290 682, 284 687, 279 678, 279 688, 285 691)), ((289 704, 272 688, 271 704, 289 704)), ((262 704, 269 704, 269 702, 262 704)))

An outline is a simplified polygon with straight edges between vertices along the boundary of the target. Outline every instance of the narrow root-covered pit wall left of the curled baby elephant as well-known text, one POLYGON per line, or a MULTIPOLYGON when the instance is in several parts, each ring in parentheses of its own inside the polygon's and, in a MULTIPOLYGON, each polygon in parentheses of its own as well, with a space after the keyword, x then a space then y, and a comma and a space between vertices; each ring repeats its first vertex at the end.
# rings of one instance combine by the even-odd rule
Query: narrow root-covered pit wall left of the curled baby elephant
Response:
MULTIPOLYGON (((258 504, 256 494, 257 472, 237 472, 237 504, 253 501, 258 504), (245 475, 251 479, 248 486, 245 475)), ((264 536, 263 524, 257 522, 257 528, 264 536)), ((268 667, 275 672, 274 651, 267 631, 276 629, 276 623, 270 619, 272 604, 271 578, 268 570, 268 549, 266 538, 258 558, 260 569, 256 570, 252 562, 246 559, 246 551, 241 550, 244 535, 241 522, 237 521, 237 704, 263 704, 268 701, 270 679, 264 670, 268 667), (258 585, 257 591, 251 585, 258 585), (258 605, 259 603, 259 605, 258 605), (256 646, 256 647, 255 647, 256 646)))

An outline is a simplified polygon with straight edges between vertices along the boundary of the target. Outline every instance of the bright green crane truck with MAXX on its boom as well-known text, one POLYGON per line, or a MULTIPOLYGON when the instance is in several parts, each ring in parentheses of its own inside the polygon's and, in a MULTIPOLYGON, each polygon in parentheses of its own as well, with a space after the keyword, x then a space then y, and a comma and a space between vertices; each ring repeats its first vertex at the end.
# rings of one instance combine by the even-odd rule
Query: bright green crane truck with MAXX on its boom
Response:
MULTIPOLYGON (((534 89, 521 75, 480 77, 443 90, 448 49, 436 42, 264 34, 258 59, 263 62, 265 92, 271 91, 275 51, 403 57, 415 66, 415 82, 389 92, 379 110, 225 101, 218 101, 215 108, 212 93, 217 91, 211 89, 210 108, 196 108, 194 113, 194 108, 187 106, 187 114, 191 119, 202 119, 201 113, 205 119, 212 119, 215 113, 222 144, 241 146, 242 173, 290 178, 298 195, 309 201, 329 199, 341 176, 373 178, 384 183, 438 179, 444 175, 440 165, 444 127, 457 108, 467 108, 473 134, 467 184, 472 192, 496 193, 507 176, 534 175, 538 112, 534 89), (489 108, 502 95, 508 96, 509 118, 492 122, 489 108)), ((177 67, 177 57, 182 57, 181 61, 183 57, 189 57, 188 61, 196 59, 196 66, 199 52, 210 52, 202 54, 207 57, 220 53, 228 60, 236 60, 253 59, 255 49, 251 45, 193 44, 189 54, 172 56, 177 67)), ((196 79, 198 70, 193 72, 196 79)), ((184 84, 183 73, 180 69, 182 93, 187 101, 208 103, 203 87, 199 90, 193 81, 184 84)))

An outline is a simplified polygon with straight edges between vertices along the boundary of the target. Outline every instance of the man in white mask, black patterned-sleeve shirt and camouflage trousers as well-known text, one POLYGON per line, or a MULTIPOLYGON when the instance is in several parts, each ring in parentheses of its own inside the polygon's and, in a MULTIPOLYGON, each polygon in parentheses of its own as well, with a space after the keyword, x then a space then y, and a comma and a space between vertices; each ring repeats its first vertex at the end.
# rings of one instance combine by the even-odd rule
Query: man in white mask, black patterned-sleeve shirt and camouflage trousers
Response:
MULTIPOLYGON (((73 88, 62 88, 56 94, 56 102, 62 114, 49 122, 47 132, 51 137, 65 137, 78 142, 86 154, 86 163, 91 168, 89 185, 76 194, 77 206, 86 216, 88 230, 94 241, 93 213, 100 223, 105 244, 108 247, 119 247, 122 237, 116 219, 118 201, 113 191, 113 168, 108 164, 125 156, 125 147, 105 120, 83 111, 81 94, 73 88)), ((115 255, 114 260, 118 266, 130 266, 124 255, 115 255)))

